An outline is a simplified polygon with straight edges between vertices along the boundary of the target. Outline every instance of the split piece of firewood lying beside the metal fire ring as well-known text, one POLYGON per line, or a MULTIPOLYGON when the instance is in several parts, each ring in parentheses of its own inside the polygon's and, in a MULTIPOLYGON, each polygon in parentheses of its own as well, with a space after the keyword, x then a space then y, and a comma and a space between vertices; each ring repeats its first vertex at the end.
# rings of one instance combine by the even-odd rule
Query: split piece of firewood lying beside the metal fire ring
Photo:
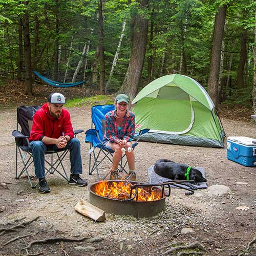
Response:
POLYGON ((79 202, 75 206, 75 210, 78 211, 80 214, 87 216, 95 221, 104 221, 105 212, 98 207, 80 199, 79 202))

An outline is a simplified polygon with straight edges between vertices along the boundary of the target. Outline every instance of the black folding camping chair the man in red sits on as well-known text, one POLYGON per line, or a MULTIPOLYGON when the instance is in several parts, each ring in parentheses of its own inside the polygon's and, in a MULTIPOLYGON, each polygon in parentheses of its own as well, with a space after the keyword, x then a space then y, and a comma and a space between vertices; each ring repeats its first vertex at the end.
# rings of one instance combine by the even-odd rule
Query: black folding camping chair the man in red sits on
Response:
MULTIPOLYGON (((29 175, 29 167, 33 163, 32 153, 29 152, 29 135, 32 128, 33 116, 37 110, 39 110, 41 106, 19 106, 17 108, 17 128, 12 132, 12 136, 15 137, 16 143, 16 179, 19 179, 24 173, 28 177, 29 184, 32 188, 35 188, 38 183, 35 185, 32 184, 31 177, 29 175), (21 131, 18 131, 19 128, 21 131), (18 155, 20 156, 20 161, 22 162, 23 168, 19 172, 18 171, 18 155)), ((74 131, 74 135, 76 136, 78 133, 82 133, 83 130, 74 131)), ((58 173, 65 180, 69 181, 68 175, 66 173, 65 167, 62 164, 62 160, 68 154, 69 149, 62 151, 46 151, 46 155, 50 155, 50 160, 45 158, 45 175, 53 174, 54 172, 58 173), (54 154, 56 157, 54 157, 54 154), (61 170, 58 167, 61 167, 61 170), (62 173, 61 173, 62 172, 62 173)))

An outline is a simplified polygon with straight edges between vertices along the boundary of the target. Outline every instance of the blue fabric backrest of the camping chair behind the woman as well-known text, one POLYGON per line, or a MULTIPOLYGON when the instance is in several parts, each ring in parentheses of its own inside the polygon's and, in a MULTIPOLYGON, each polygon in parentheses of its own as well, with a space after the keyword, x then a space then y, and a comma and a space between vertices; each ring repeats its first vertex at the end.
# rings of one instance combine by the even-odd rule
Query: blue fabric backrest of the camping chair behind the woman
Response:
POLYGON ((114 105, 92 106, 92 123, 94 124, 94 128, 98 130, 100 139, 103 138, 105 132, 105 114, 114 109, 114 105))

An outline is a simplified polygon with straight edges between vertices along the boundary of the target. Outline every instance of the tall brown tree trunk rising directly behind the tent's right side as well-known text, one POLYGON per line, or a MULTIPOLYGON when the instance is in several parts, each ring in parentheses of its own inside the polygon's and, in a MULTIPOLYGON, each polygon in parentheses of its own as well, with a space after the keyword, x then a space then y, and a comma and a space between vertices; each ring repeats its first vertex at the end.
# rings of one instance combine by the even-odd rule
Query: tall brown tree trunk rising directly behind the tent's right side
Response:
POLYGON ((214 34, 212 37, 210 72, 208 77, 208 93, 216 106, 219 103, 218 81, 220 73, 221 43, 224 34, 226 11, 227 6, 223 5, 215 15, 214 34))

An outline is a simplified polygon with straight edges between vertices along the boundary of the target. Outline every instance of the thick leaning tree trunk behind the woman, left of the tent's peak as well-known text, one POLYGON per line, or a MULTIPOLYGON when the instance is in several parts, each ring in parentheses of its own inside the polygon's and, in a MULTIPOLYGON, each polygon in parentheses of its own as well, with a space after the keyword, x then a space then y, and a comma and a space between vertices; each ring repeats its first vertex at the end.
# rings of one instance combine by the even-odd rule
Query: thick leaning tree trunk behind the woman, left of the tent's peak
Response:
MULTIPOLYGON (((140 9, 147 8, 148 0, 140 0, 140 9)), ((148 19, 136 14, 131 20, 131 58, 120 93, 134 98, 138 92, 147 41, 148 19)))

